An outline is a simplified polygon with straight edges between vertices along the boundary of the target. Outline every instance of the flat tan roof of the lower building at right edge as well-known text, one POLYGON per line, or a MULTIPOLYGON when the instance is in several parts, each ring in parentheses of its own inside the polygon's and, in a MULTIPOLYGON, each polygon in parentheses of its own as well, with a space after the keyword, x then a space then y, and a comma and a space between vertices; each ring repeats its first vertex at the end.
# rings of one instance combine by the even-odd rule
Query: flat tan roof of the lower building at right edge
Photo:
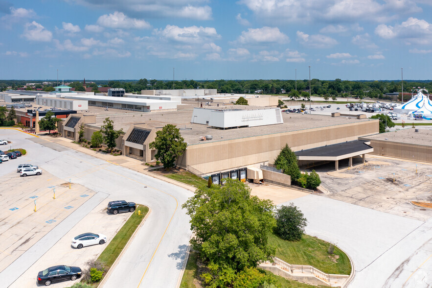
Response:
MULTIPOLYGON (((421 122, 424 123, 425 121, 421 121, 421 122)), ((411 126, 409 123, 406 123, 406 125, 411 126)), ((415 126, 415 122, 414 122, 414 126, 415 126)), ((402 128, 401 130, 375 134, 375 135, 362 137, 362 138, 368 140, 381 140, 381 141, 388 141, 388 142, 432 146, 432 122, 431 122, 431 126, 429 127, 419 126, 416 128, 405 128, 405 129, 402 128), (415 132, 415 129, 418 129, 418 132, 415 132)))

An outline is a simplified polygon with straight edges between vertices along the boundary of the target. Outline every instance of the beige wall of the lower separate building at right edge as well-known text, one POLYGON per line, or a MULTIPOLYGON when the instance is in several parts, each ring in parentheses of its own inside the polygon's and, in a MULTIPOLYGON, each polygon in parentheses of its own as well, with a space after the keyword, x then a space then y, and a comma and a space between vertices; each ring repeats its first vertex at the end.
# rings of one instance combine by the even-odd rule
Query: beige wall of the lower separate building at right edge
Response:
POLYGON ((368 139, 375 155, 432 163, 432 146, 368 139))

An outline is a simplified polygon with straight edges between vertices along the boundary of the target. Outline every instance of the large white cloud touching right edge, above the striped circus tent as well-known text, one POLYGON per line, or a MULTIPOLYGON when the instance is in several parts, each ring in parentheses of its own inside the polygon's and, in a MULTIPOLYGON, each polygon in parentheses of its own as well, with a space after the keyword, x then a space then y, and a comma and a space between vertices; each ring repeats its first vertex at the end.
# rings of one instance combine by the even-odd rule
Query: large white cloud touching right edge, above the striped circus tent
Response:
POLYGON ((380 24, 375 28, 375 34, 384 39, 400 38, 414 44, 432 44, 432 24, 413 17, 394 26, 380 24))

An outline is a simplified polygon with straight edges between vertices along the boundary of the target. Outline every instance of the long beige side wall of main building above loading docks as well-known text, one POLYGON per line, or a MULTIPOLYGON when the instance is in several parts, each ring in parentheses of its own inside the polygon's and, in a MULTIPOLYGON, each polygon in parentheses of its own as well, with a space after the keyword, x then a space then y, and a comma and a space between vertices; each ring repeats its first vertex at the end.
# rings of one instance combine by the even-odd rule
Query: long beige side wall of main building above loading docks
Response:
POLYGON ((203 173, 245 167, 254 163, 273 163, 280 149, 288 144, 293 151, 357 140, 377 134, 379 120, 347 123, 300 131, 189 145, 186 162, 203 173))

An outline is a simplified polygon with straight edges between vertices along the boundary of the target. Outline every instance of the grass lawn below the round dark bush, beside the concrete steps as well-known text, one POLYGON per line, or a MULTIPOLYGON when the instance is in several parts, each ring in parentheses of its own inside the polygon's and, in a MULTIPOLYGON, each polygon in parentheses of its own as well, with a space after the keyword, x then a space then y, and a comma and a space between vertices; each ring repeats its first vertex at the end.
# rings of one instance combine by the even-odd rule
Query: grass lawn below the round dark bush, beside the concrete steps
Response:
POLYGON ((330 243, 318 238, 304 234, 300 241, 286 241, 270 234, 269 244, 276 246, 276 257, 289 264, 311 265, 329 274, 351 273, 348 256, 335 247, 332 259, 327 252, 330 243))

